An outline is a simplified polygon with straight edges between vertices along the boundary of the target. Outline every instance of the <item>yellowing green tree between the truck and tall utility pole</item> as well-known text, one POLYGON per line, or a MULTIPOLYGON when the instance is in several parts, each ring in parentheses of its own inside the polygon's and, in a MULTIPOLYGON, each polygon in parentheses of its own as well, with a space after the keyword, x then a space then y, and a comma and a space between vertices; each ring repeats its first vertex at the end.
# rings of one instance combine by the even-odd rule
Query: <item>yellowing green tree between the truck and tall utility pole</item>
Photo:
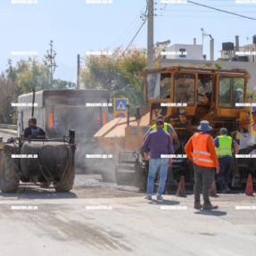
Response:
POLYGON ((131 113, 136 105, 145 104, 143 78, 140 72, 146 67, 145 49, 131 47, 125 54, 118 47, 109 55, 85 56, 80 72, 80 85, 86 88, 108 89, 112 97, 128 97, 131 113))

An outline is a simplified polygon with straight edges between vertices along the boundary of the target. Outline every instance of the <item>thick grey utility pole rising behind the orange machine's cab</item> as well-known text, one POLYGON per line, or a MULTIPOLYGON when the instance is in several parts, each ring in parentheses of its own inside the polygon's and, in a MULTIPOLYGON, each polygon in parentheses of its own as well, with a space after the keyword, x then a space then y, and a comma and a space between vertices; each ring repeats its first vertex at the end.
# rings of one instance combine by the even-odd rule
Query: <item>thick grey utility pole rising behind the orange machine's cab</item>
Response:
POLYGON ((147 0, 147 68, 153 68, 153 0, 147 0))

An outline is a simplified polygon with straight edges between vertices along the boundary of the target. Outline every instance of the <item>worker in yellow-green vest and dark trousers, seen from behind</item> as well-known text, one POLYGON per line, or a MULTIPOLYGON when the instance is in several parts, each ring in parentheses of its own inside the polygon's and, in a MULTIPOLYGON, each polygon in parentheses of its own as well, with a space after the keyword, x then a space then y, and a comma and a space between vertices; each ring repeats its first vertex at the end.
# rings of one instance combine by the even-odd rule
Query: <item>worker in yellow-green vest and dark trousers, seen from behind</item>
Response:
POLYGON ((214 139, 219 160, 219 173, 217 173, 216 177, 221 188, 221 193, 225 194, 230 191, 228 180, 232 171, 232 145, 234 145, 235 154, 238 153, 239 146, 234 140, 232 141, 231 136, 227 136, 227 128, 221 128, 219 135, 214 139))

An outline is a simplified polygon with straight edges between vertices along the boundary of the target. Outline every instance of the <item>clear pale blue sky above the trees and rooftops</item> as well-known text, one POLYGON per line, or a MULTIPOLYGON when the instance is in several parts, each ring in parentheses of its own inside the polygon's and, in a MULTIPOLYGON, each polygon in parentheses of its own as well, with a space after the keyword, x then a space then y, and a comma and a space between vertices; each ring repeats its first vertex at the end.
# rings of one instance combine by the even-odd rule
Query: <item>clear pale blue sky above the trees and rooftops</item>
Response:
MULTIPOLYGON (((25 1, 25 0, 23 0, 25 1)), ((27 0, 28 1, 28 0, 27 0)), ((154 42, 169 39, 172 44, 202 44, 202 31, 215 39, 215 58, 223 42, 240 45, 252 43, 256 21, 216 12, 194 4, 161 4, 154 1, 154 42), (165 6, 164 10, 163 9, 165 6), (162 14, 162 15, 161 15, 162 14), (250 37, 247 41, 246 37, 250 37)), ((228 12, 256 19, 256 4, 235 4, 235 0, 194 0, 228 12)), ((35 51, 41 60, 54 40, 58 68, 54 78, 76 81, 77 54, 110 47, 126 47, 142 24, 140 13, 145 12, 146 0, 112 0, 112 4, 87 4, 86 0, 37 0, 37 4, 12 4, 0 1, 0 71, 7 59, 17 62, 21 56, 12 52, 35 51)), ((134 43, 146 46, 146 24, 134 43)), ((210 37, 204 37, 204 54, 209 54, 210 37)), ((27 58, 27 57, 22 57, 27 58)))

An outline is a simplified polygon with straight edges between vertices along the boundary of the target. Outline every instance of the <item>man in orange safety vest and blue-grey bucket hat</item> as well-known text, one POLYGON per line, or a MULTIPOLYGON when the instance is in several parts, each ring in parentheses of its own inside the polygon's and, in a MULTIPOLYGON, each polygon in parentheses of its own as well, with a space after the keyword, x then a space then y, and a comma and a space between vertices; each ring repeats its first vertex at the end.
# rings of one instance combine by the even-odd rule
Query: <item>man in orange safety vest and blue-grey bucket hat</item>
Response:
POLYGON ((194 209, 217 209, 218 206, 213 206, 209 198, 209 190, 213 178, 215 178, 215 169, 219 173, 219 161, 215 151, 215 143, 210 135, 212 128, 209 125, 209 121, 203 120, 197 129, 200 132, 195 133, 185 146, 187 157, 194 165, 194 209), (201 187, 203 205, 200 202, 201 187))

